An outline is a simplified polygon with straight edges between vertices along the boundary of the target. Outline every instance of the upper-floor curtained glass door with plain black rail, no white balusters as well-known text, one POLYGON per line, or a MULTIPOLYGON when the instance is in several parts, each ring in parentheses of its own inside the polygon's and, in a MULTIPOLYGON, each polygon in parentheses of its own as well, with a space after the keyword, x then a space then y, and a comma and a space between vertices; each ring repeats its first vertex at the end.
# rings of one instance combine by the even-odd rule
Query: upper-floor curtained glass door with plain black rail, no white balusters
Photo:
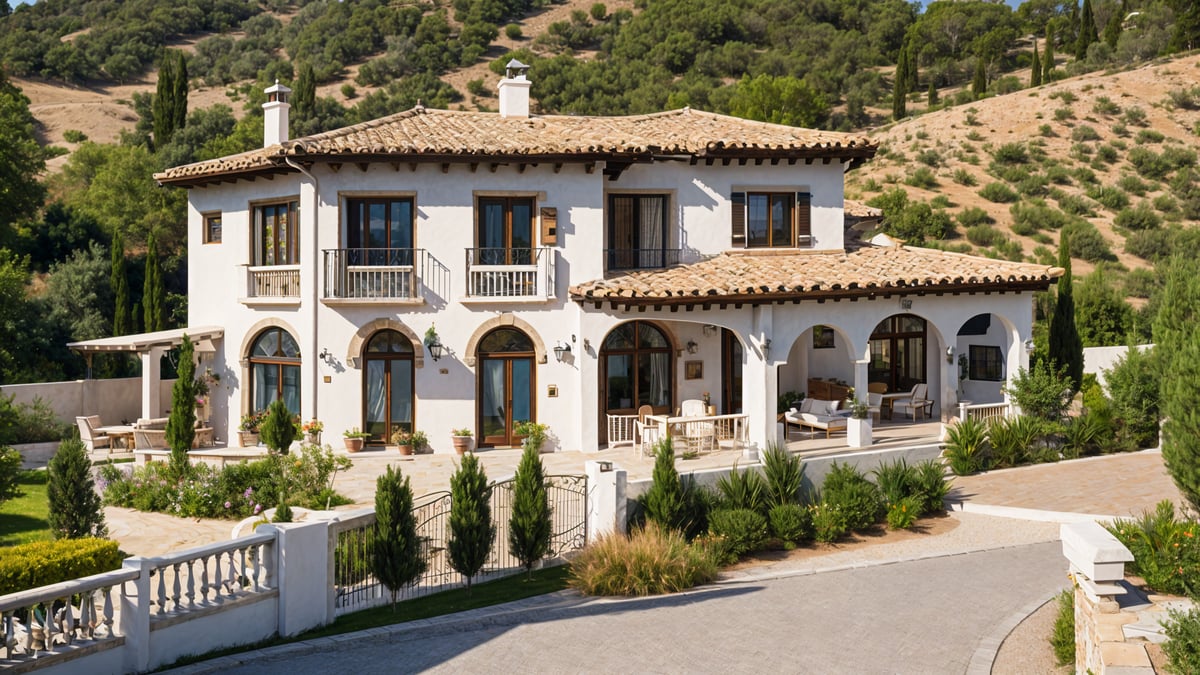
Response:
POLYGON ((666 195, 608 196, 608 269, 660 268, 679 262, 667 251, 667 204, 666 195))

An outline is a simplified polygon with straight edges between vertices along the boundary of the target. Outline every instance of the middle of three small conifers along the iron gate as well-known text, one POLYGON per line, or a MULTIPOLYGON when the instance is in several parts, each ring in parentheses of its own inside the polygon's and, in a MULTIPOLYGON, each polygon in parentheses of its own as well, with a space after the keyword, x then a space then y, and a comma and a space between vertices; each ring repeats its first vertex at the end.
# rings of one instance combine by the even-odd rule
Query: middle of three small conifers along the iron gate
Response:
POLYGON ((492 524, 492 491, 487 476, 474 453, 462 458, 462 465, 450 477, 450 567, 470 584, 484 568, 496 540, 492 524))

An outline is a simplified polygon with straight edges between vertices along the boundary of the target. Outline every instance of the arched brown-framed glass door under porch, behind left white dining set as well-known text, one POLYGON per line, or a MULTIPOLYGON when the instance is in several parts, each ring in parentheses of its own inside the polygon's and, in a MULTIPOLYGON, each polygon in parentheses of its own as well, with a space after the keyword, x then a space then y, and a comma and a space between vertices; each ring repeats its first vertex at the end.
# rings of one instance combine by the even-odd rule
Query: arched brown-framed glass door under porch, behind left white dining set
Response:
POLYGON ((600 408, 605 414, 635 414, 650 406, 655 413, 670 413, 673 368, 671 342, 659 327, 631 321, 613 328, 600 347, 600 408))

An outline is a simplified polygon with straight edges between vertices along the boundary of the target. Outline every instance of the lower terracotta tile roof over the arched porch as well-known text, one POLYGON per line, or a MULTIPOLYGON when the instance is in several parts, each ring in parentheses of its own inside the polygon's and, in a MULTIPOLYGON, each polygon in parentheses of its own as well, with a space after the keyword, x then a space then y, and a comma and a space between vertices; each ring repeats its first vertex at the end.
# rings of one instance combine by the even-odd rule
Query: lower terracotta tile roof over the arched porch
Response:
POLYGON ((730 251, 668 269, 588 281, 571 299, 614 304, 773 301, 928 292, 1044 289, 1063 270, 912 246, 730 251))

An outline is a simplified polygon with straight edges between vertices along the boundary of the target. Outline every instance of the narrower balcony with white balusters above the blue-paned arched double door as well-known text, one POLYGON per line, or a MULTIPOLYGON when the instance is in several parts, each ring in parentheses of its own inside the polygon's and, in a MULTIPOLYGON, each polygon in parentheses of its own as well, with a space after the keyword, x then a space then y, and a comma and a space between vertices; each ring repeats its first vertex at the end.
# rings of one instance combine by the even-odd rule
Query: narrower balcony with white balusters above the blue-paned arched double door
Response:
POLYGON ((539 301, 554 298, 554 250, 467 249, 467 299, 539 301))

